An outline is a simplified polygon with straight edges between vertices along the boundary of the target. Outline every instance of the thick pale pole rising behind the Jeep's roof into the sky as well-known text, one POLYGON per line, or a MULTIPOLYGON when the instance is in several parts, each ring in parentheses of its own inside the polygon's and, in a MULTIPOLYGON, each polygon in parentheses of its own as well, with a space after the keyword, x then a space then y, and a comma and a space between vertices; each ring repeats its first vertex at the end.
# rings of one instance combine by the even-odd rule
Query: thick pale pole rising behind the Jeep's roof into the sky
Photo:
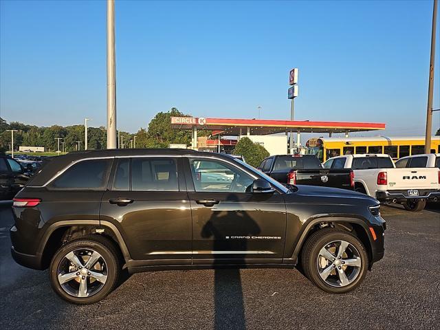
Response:
POLYGON ((107 149, 116 148, 115 0, 107 0, 107 149))

